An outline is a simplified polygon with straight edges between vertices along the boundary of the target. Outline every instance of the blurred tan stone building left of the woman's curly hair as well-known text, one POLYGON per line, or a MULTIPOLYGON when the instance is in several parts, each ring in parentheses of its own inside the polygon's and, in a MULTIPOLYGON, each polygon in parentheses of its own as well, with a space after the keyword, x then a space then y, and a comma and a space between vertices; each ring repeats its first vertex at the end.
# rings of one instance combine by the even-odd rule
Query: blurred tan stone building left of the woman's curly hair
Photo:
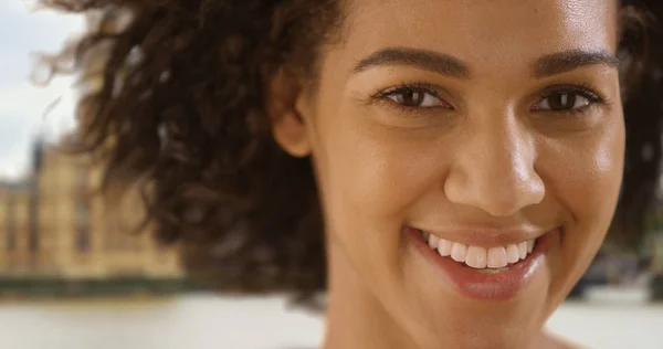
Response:
POLYGON ((0 183, 0 277, 181 277, 173 246, 151 239, 140 195, 129 191, 118 208, 95 192, 101 170, 36 144, 33 170, 21 182, 0 183))

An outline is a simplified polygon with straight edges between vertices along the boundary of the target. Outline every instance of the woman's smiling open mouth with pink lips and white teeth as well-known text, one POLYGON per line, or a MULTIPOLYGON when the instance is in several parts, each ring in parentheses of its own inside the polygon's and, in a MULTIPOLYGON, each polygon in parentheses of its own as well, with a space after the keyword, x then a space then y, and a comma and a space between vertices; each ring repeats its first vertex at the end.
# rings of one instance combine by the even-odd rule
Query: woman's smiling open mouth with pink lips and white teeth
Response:
POLYGON ((493 300, 512 298, 526 289, 546 269, 548 252, 559 248, 561 239, 560 228, 525 241, 518 241, 513 232, 497 237, 470 234, 473 236, 462 237, 464 243, 411 226, 406 226, 403 233, 408 245, 429 265, 423 268, 431 275, 440 276, 443 284, 467 297, 493 300), (477 245, 482 240, 485 247, 477 245))

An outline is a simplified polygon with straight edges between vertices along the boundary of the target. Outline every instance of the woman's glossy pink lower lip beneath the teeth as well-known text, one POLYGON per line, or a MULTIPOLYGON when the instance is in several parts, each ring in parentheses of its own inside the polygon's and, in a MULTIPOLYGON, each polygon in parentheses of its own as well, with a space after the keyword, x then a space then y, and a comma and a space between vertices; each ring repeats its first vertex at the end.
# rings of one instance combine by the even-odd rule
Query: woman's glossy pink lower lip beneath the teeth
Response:
POLYGON ((404 234, 457 292, 470 298, 504 300, 513 298, 525 289, 534 276, 543 269, 546 253, 559 237, 559 230, 540 236, 536 241, 534 251, 525 260, 496 274, 480 273, 465 264, 441 256, 429 247, 419 230, 406 228, 404 234))

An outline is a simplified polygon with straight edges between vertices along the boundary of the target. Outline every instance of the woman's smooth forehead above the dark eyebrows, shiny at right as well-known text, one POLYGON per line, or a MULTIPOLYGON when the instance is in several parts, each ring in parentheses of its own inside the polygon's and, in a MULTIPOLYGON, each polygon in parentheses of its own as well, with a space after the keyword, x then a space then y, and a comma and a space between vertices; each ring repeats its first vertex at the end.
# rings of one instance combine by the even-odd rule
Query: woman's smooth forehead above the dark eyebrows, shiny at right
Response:
POLYGON ((454 55, 481 71, 568 50, 611 51, 617 0, 349 0, 344 51, 393 46, 454 55))

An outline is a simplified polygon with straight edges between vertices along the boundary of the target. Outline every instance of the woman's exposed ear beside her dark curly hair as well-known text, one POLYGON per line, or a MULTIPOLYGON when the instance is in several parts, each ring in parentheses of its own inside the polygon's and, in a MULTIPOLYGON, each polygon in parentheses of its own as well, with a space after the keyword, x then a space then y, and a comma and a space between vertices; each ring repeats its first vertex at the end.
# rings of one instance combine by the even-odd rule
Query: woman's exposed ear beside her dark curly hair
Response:
POLYGON ((311 155, 306 118, 301 113, 302 92, 293 74, 284 68, 274 75, 267 89, 267 114, 276 142, 298 158, 311 155))

